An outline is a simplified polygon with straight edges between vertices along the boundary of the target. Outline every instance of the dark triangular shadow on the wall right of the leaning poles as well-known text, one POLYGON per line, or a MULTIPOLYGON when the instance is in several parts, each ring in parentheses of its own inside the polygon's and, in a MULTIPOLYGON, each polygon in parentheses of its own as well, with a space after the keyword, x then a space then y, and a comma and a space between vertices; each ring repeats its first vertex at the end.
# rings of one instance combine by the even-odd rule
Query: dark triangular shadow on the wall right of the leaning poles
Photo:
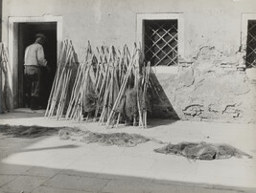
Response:
POLYGON ((150 75, 150 81, 151 115, 149 115, 149 118, 180 119, 156 75, 153 73, 150 75))

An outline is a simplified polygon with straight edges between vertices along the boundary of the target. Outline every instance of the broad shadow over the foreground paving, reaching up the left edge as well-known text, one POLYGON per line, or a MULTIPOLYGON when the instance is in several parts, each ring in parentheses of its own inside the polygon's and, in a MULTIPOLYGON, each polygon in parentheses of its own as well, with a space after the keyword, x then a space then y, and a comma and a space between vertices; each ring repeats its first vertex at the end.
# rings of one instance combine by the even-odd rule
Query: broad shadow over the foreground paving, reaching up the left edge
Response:
MULTIPOLYGON (((3 163, 2 160, 16 152, 24 152, 25 147, 41 139, 7 138, 0 134, 0 192, 192 192, 192 193, 231 193, 255 192, 255 189, 230 187, 205 183, 175 182, 138 176, 124 176, 93 171, 89 166, 81 170, 33 165, 3 163)), ((74 148, 76 145, 54 146, 51 148, 74 148)), ((35 148, 28 151, 47 150, 35 148)), ((33 160, 33 158, 31 158, 33 160)), ((109 170, 111 171, 111 170, 109 170)), ((114 171, 114 168, 113 168, 114 171)))

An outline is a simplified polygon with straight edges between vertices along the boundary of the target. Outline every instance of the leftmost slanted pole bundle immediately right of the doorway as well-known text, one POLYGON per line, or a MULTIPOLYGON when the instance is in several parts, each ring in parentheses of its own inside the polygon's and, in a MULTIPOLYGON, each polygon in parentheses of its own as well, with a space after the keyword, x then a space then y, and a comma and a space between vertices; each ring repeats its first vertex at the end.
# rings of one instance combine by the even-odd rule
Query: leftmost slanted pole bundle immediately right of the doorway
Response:
POLYGON ((74 83, 72 76, 76 74, 77 68, 78 64, 72 42, 70 40, 64 40, 45 117, 62 118, 64 116, 74 83))

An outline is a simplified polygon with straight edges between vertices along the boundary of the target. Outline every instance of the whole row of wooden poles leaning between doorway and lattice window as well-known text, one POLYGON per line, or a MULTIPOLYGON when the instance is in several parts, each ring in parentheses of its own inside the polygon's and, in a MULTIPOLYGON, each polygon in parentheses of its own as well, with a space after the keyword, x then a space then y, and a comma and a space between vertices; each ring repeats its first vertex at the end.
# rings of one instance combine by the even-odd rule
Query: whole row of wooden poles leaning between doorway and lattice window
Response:
MULTIPOLYGON (((64 45, 65 49, 69 50, 69 44, 64 45)), ((68 52, 63 53, 62 56, 68 57, 68 52)), ((72 57, 65 61, 69 61, 70 58, 72 57)), ((64 66, 70 66, 70 63, 65 62, 64 66)), ((136 45, 132 54, 129 53, 127 46, 122 50, 113 46, 102 46, 93 52, 88 42, 83 50, 72 92, 68 98, 65 82, 70 78, 68 72, 71 68, 58 67, 46 116, 99 121, 108 127, 117 126, 126 119, 129 119, 130 123, 132 119, 133 125, 147 127, 150 66, 150 63, 146 64, 143 61, 141 51, 136 45), (68 101, 66 111, 63 111, 63 100, 68 101)))

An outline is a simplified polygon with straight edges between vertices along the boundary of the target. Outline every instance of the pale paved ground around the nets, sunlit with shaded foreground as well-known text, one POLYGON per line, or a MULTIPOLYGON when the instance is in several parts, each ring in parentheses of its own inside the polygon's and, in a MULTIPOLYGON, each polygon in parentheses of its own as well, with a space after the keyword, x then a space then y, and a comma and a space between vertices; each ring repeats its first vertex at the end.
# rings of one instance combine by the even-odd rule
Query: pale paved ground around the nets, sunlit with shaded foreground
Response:
MULTIPOLYGON (((79 126, 97 132, 138 133, 170 141, 225 142, 253 159, 190 161, 154 153, 162 145, 101 146, 58 136, 36 139, 0 134, 0 192, 256 192, 256 127, 231 124, 153 120, 148 129, 45 119, 43 112, 0 116, 0 124, 79 126)), ((0 128, 1 129, 1 128, 0 128)))

